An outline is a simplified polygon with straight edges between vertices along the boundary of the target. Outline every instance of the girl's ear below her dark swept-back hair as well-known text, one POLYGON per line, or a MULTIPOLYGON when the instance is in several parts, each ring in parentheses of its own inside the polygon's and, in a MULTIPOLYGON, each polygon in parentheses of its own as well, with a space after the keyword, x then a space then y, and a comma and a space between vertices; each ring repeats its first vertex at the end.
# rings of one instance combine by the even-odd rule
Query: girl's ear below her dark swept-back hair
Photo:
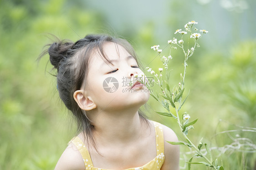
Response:
POLYGON ((85 91, 77 90, 74 92, 74 99, 77 102, 77 105, 82 110, 92 110, 97 108, 97 105, 92 101, 90 96, 87 96, 85 91))

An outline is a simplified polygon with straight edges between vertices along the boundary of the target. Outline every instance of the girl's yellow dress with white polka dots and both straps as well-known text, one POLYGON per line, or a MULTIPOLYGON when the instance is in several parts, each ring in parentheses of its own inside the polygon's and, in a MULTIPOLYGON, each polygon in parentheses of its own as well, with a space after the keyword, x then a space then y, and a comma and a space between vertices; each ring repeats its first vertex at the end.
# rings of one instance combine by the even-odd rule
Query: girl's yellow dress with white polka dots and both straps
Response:
MULTIPOLYGON (((143 166, 128 168, 125 170, 160 170, 160 168, 164 164, 164 135, 163 135, 163 128, 161 124, 154 122, 154 127, 155 127, 155 135, 156 135, 157 156, 143 166)), ((102 168, 96 168, 93 166, 91 156, 86 146, 83 144, 82 140, 79 137, 73 138, 71 142, 77 147, 80 154, 82 155, 86 170, 107 170, 102 168)))

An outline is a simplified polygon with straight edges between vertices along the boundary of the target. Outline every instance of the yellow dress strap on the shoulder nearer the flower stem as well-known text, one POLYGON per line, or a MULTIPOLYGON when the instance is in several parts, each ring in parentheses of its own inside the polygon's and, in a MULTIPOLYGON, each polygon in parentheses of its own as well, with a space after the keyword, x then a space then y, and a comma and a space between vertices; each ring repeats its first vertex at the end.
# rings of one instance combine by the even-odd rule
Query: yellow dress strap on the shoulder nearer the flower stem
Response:
POLYGON ((163 126, 154 121, 155 126, 155 135, 156 135, 156 150, 157 155, 163 155, 164 154, 164 132, 163 132, 163 126))

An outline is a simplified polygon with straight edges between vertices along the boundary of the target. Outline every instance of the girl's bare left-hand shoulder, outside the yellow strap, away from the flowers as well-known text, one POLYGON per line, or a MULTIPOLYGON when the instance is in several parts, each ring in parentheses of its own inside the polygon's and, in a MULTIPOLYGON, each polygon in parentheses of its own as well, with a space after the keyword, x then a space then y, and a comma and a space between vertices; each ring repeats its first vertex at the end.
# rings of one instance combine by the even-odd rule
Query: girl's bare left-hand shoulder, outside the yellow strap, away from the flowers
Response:
POLYGON ((85 170, 82 156, 72 142, 62 153, 54 170, 85 170))

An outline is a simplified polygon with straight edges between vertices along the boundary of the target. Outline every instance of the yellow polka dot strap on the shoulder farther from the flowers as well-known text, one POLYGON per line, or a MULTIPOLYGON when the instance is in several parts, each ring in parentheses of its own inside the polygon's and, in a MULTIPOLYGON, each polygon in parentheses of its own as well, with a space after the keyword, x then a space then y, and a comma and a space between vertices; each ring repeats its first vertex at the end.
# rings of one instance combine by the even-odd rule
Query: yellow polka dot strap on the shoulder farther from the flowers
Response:
POLYGON ((87 150, 84 143, 82 142, 82 140, 78 136, 76 136, 70 142, 72 142, 77 147, 80 154, 82 155, 82 159, 84 161, 85 168, 87 169, 87 168, 93 167, 90 153, 87 150))

